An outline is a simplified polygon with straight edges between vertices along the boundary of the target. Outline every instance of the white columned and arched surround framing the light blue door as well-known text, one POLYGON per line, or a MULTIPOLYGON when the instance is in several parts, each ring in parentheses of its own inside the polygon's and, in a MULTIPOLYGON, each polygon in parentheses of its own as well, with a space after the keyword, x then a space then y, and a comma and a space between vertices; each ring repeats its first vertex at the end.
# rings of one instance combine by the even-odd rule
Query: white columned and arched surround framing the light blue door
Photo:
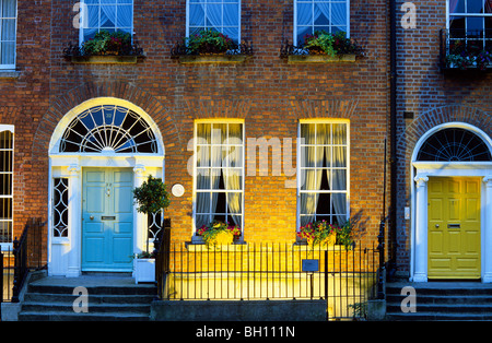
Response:
MULTIPOLYGON (((133 185, 142 185, 148 175, 164 180, 164 144, 155 122, 134 104, 114 97, 86 100, 70 110, 58 123, 49 144, 49 198, 48 198, 48 274, 77 277, 81 274, 82 237, 82 169, 84 167, 132 168, 133 185), (156 141, 156 153, 116 153, 103 150, 99 153, 60 153, 60 141, 67 127, 84 110, 99 105, 116 105, 138 114, 150 126, 156 141), (68 235, 52 234, 52 184, 54 178, 68 179, 68 235)), ((133 206, 133 252, 145 249, 147 216, 133 206)))

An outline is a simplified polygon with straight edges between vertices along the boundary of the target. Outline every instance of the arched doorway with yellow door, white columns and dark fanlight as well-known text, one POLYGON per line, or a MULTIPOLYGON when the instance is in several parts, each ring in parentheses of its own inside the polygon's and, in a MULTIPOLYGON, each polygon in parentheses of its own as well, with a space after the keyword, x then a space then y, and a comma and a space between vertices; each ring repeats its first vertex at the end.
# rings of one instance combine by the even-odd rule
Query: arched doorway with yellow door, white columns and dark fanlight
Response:
POLYGON ((492 281, 492 142, 464 122, 436 126, 411 163, 411 279, 492 281))

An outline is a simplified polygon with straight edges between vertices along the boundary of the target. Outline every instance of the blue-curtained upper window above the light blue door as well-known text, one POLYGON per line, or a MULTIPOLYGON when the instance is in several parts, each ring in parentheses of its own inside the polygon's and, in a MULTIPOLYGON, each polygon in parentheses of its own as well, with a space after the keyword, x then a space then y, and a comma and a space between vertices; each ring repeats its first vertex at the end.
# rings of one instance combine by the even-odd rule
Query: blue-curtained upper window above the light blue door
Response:
POLYGON ((94 37, 99 31, 133 32, 133 0, 82 0, 80 42, 94 37))

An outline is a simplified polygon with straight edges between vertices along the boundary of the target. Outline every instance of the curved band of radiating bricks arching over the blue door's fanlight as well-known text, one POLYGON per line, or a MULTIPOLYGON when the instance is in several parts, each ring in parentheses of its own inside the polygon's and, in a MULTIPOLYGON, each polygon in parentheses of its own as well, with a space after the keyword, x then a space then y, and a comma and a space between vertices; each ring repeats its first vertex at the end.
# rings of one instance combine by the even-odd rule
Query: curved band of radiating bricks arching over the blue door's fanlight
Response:
POLYGON ((52 99, 40 119, 33 141, 33 158, 43 159, 48 154, 50 138, 63 116, 85 100, 96 97, 115 97, 142 108, 161 130, 166 155, 177 153, 181 138, 168 110, 152 94, 126 82, 87 82, 52 99), (177 144, 178 143, 178 144, 177 144))

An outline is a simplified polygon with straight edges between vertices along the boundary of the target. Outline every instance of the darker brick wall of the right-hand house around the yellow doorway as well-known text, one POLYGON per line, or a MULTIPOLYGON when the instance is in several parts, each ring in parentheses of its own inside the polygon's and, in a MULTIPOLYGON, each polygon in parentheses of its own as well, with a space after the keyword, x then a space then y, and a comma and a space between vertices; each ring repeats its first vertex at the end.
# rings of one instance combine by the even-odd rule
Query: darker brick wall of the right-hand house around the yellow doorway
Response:
MULTIPOLYGON (((411 204, 410 162, 417 141, 433 127, 450 121, 467 122, 492 134, 492 75, 442 73, 440 29, 446 27, 446 3, 412 2, 417 8, 417 28, 398 25, 397 45, 397 264, 401 274, 408 274, 410 264, 410 221, 405 220, 403 210, 411 204), (410 118, 403 117, 405 111, 410 113, 410 118)), ((397 8, 402 3, 398 1, 397 8)))

